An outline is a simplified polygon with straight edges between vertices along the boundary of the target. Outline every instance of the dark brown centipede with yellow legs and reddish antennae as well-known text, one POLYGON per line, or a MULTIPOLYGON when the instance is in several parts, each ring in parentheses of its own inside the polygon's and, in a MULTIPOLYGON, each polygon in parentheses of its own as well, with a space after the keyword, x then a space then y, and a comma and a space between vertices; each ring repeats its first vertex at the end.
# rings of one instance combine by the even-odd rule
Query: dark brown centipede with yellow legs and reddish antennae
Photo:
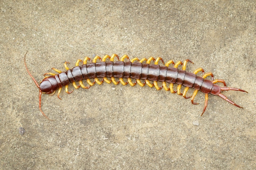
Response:
POLYGON ((103 58, 96 55, 93 60, 89 57, 85 57, 84 60, 77 60, 75 66, 71 69, 67 66, 69 62, 64 62, 66 69, 65 72, 52 68, 56 73, 45 73, 45 78, 38 83, 27 68, 26 55, 27 53, 24 56, 25 68, 36 86, 39 88, 39 110, 47 119, 49 119, 49 117, 47 117, 41 108, 42 93, 53 95, 58 90, 57 97, 61 99, 60 93, 63 87, 65 87, 65 92, 68 94, 74 91, 68 90, 69 84, 72 84, 75 89, 79 87, 88 89, 95 83, 101 85, 103 82, 108 84, 112 82, 115 85, 121 83, 124 86, 127 84, 130 84, 131 86, 139 84, 142 87, 147 84, 151 88, 155 86, 157 90, 164 88, 166 91, 170 91, 171 93, 177 93, 178 95, 182 95, 185 99, 191 98, 192 104, 199 104, 194 102, 194 99, 198 94, 198 91, 201 91, 205 94, 204 108, 201 116, 207 108, 209 94, 218 95, 238 108, 243 108, 228 99, 222 94, 222 92, 231 90, 248 93, 240 88, 227 87, 226 82, 223 79, 213 80, 213 73, 204 73, 203 68, 198 68, 193 73, 186 71, 186 64, 188 62, 194 64, 189 59, 185 60, 183 63, 181 61, 175 63, 173 60, 169 60, 164 63, 161 57, 157 57, 157 59, 149 57, 148 59, 143 58, 141 60, 135 57, 132 60, 129 60, 129 57, 124 55, 119 60, 119 56, 116 54, 111 55, 111 57, 109 55, 105 55, 103 58), (115 57, 118 61, 114 60, 115 57), (99 60, 99 62, 97 62, 97 60, 99 60), (90 62, 89 64, 87 63, 88 61, 90 62), (153 61, 154 64, 151 64, 151 61, 153 61), (163 63, 163 66, 158 64, 160 61, 163 63), (79 66, 80 62, 82 65, 80 64, 79 66), (170 65, 173 65, 173 67, 170 67, 170 65), (181 66, 182 69, 179 69, 178 66, 181 66), (197 75, 199 72, 202 72, 202 77, 197 75), (211 76, 211 80, 206 79, 208 76, 211 76), (101 80, 99 80, 99 78, 101 78, 101 80), (127 81, 124 81, 124 78, 126 78, 127 81), (93 82, 91 81, 92 79, 94 80, 93 82), (132 79, 135 79, 135 82, 134 80, 132 81, 132 79), (86 80, 88 86, 83 84, 83 80, 86 80), (141 80, 144 80, 144 82, 142 83, 141 80), (162 82, 162 85, 159 87, 157 82, 162 82), (79 85, 76 85, 77 83, 79 83, 79 85), (219 86, 216 83, 222 83, 224 87, 219 86), (174 84, 177 84, 176 91, 174 90, 174 84), (182 86, 184 86, 183 93, 181 93, 182 86), (189 88, 193 88, 194 92, 188 97, 186 96, 186 93, 189 88))

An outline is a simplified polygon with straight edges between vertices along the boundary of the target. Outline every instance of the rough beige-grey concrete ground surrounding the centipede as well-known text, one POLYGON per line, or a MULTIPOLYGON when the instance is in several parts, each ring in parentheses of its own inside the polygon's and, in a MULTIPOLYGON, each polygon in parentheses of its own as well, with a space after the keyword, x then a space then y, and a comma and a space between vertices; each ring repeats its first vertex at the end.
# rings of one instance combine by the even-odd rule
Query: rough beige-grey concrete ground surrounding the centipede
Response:
POLYGON ((2 0, 1 169, 256 169, 255 7, 254 0, 2 0), (52 67, 64 71, 65 61, 72 67, 116 53, 190 59, 188 71, 202 67, 249 93, 223 92, 244 109, 210 95, 200 117, 202 93, 192 105, 148 86, 103 83, 62 91, 62 100, 43 95, 49 121, 26 51, 38 82, 52 67))

